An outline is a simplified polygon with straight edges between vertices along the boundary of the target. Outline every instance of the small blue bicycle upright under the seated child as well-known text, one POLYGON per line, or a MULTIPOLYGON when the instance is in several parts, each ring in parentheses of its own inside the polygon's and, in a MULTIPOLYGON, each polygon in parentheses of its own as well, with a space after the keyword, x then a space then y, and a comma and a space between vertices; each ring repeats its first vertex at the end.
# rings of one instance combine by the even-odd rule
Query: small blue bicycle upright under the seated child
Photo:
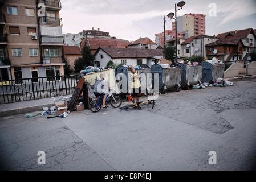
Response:
MULTIPOLYGON (((89 108, 93 113, 97 113, 101 109, 104 96, 100 96, 97 100, 90 102, 89 108)), ((122 104, 122 99, 119 96, 113 96, 112 93, 108 93, 106 96, 106 103, 110 102, 111 106, 114 108, 120 107, 122 104)))

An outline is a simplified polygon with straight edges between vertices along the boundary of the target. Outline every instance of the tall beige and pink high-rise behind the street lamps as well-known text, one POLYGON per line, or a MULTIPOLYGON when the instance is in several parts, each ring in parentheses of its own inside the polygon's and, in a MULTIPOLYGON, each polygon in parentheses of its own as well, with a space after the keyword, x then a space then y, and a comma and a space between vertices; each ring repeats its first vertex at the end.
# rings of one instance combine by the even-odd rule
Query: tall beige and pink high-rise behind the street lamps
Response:
MULTIPOLYGON (((175 22, 172 22, 172 30, 175 30, 175 22)), ((177 18, 177 31, 186 33, 186 38, 190 36, 205 35, 205 15, 185 14, 177 18)))

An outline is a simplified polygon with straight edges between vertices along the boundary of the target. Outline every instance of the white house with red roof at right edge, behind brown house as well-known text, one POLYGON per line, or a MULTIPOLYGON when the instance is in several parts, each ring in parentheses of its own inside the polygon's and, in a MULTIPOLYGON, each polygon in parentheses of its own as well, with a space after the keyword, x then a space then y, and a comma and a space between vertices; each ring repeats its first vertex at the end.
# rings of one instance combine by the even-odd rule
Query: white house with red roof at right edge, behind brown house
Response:
POLYGON ((243 30, 234 30, 234 31, 225 32, 217 35, 217 37, 220 39, 225 39, 225 38, 228 38, 229 36, 241 38, 243 45, 245 46, 245 48, 243 48, 242 59, 249 60, 250 53, 253 53, 256 47, 256 44, 255 44, 256 34, 253 28, 247 28, 243 30))

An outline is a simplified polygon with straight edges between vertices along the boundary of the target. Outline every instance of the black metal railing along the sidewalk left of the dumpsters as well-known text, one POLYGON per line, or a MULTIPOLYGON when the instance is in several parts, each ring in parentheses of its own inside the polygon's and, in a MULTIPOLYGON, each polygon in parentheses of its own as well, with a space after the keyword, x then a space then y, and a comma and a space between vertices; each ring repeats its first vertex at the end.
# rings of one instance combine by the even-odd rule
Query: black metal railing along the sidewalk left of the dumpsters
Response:
POLYGON ((73 94, 80 75, 0 81, 0 104, 73 94))

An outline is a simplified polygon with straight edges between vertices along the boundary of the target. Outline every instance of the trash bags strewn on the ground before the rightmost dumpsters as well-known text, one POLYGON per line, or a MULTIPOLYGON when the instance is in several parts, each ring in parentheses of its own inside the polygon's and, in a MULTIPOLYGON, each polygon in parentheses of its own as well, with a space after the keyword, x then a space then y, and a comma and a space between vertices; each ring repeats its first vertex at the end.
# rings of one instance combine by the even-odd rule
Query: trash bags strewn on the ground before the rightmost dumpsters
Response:
POLYGON ((223 78, 213 79, 211 83, 203 83, 193 85, 193 89, 205 89, 206 87, 226 87, 226 86, 233 86, 233 82, 225 80, 223 78))

